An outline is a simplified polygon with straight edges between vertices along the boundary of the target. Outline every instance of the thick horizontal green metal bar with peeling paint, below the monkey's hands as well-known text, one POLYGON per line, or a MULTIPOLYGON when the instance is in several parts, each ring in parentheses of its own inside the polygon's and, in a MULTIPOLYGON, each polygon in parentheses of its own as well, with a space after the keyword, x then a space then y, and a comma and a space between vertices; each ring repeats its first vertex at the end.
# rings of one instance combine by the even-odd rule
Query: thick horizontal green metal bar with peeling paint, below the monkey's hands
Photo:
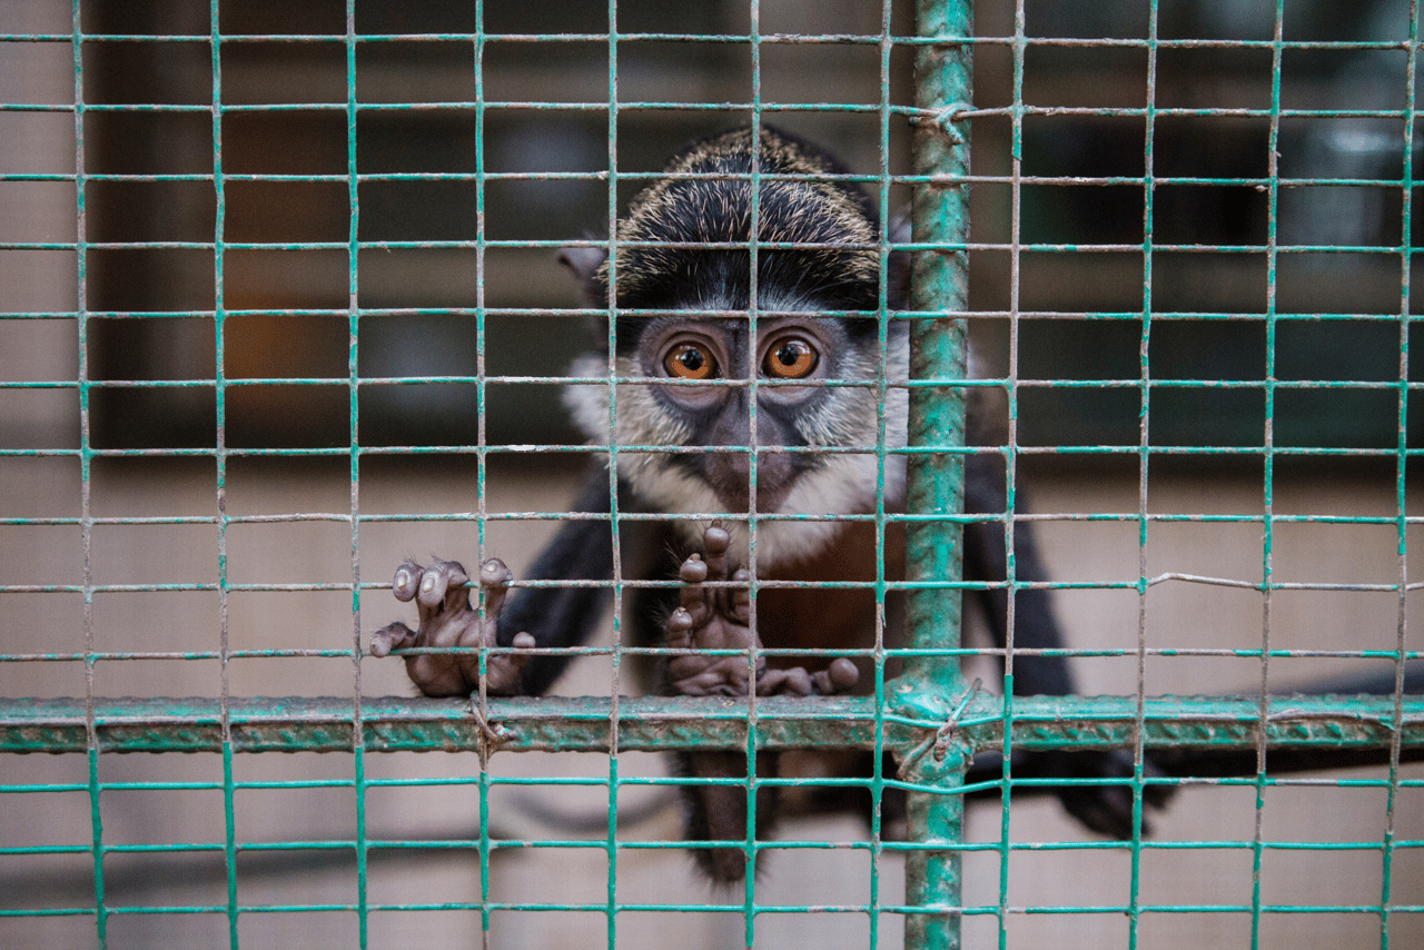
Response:
MULTIPOLYGON (((612 704, 607 698, 491 699, 481 721, 461 699, 366 698, 359 716, 350 698, 259 696, 226 702, 232 745, 242 752, 609 751, 612 704)), ((1265 709, 1273 748, 1387 749, 1394 696, 1272 696, 1265 709)), ((1424 749, 1424 696, 1400 702, 1400 741, 1424 749)), ((746 748, 748 706, 739 701, 621 698, 619 751, 746 748)), ((94 699, 94 736, 101 752, 218 752, 224 702, 216 698, 94 699)), ((83 698, 0 699, 0 752, 84 752, 88 712, 83 698)), ((1155 696, 1143 704, 1148 749, 1256 748, 1260 701, 1230 696, 1155 696)), ((1131 748, 1138 728, 1135 696, 1015 698, 1012 748, 1131 748)), ((978 696, 957 724, 887 715, 867 696, 759 698, 759 748, 889 748, 910 751, 928 739, 963 742, 974 751, 1004 745, 997 696, 978 696)))

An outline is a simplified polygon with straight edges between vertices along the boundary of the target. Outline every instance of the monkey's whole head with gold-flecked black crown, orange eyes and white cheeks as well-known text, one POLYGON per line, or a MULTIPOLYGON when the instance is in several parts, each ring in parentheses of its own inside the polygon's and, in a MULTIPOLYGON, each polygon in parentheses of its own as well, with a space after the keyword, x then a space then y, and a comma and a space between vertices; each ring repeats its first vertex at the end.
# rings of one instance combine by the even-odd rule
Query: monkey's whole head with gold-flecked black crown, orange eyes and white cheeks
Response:
MULTIPOLYGON (((588 305, 617 308, 617 422, 597 385, 570 387, 575 420, 618 446, 634 494, 661 511, 731 516, 743 550, 748 511, 864 513, 877 447, 904 444, 907 397, 893 383, 907 375, 907 333, 900 322, 881 332, 879 315, 881 293, 903 306, 907 268, 884 254, 874 204, 846 174, 785 132, 733 130, 684 148, 632 199, 612 258, 564 255, 588 305)), ((574 367, 608 370, 607 350, 574 367)), ((884 467, 899 496, 903 461, 884 467)), ((702 527, 688 523, 686 536, 702 527)), ((837 530, 763 521, 758 557, 806 557, 837 530)))

